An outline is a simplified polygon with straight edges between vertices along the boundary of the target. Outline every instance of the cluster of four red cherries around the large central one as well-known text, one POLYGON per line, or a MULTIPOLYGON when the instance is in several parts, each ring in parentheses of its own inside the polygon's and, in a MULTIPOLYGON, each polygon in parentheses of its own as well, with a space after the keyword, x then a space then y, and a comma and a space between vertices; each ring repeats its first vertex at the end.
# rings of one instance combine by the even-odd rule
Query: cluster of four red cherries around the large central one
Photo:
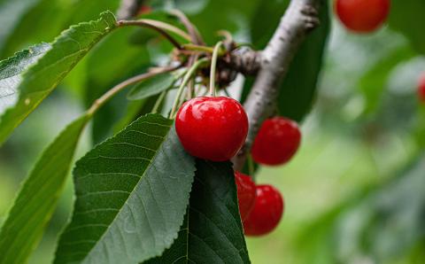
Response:
MULTIPOLYGON (((213 161, 233 158, 248 133, 243 106, 229 97, 196 97, 179 109, 175 128, 186 151, 213 161)), ((297 151, 301 134, 294 121, 265 120, 252 145, 252 159, 262 165, 281 165, 297 151)), ((239 211, 247 236, 271 232, 282 218, 283 198, 271 185, 256 185, 250 176, 235 172, 239 211)))

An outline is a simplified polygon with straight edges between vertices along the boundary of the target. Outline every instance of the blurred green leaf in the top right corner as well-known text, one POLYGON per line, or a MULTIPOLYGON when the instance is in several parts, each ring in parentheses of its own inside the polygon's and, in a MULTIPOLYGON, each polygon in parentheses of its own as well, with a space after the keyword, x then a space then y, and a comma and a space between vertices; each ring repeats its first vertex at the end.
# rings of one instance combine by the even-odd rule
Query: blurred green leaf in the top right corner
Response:
POLYGON ((391 1, 390 27, 405 35, 421 54, 425 54, 424 12, 423 0, 391 1))

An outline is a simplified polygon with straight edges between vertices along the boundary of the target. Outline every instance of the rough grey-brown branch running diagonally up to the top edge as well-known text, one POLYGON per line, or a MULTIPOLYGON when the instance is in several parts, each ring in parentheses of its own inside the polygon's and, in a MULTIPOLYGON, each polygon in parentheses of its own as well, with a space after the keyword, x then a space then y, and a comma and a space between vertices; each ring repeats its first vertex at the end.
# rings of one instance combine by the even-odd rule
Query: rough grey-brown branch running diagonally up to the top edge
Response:
MULTIPOLYGON (((257 54, 250 54, 250 61, 254 62, 251 63, 251 69, 256 69, 256 63, 259 66, 257 65, 257 78, 243 105, 250 128, 246 143, 233 159, 236 170, 243 168, 261 123, 274 113, 280 84, 305 35, 319 25, 319 5, 320 0, 291 0, 266 49, 258 51, 257 54)), ((238 58, 238 55, 234 57, 234 62, 246 59, 238 58)))

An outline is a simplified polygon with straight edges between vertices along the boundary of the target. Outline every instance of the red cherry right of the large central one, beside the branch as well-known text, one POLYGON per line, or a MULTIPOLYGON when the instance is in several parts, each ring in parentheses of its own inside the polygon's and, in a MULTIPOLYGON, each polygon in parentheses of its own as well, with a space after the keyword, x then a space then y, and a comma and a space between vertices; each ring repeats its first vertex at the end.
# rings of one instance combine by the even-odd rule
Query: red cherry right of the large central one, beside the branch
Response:
POLYGON ((252 144, 252 159, 259 164, 281 165, 297 152, 300 141, 295 121, 283 117, 265 120, 252 144))

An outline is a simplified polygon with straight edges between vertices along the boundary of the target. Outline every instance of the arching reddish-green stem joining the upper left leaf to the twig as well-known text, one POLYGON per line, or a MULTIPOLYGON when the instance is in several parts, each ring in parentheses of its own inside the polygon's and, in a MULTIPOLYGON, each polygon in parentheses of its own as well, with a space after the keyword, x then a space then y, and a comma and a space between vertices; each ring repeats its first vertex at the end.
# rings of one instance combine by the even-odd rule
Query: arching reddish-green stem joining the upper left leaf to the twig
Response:
POLYGON ((120 20, 118 21, 118 26, 140 26, 152 28, 156 30, 159 34, 165 36, 166 39, 179 50, 182 50, 182 45, 177 42, 172 35, 169 35, 167 31, 173 32, 176 35, 180 35, 182 38, 188 40, 189 42, 191 41, 190 36, 186 32, 182 31, 182 29, 180 29, 179 27, 174 27, 173 25, 153 19, 120 20))

